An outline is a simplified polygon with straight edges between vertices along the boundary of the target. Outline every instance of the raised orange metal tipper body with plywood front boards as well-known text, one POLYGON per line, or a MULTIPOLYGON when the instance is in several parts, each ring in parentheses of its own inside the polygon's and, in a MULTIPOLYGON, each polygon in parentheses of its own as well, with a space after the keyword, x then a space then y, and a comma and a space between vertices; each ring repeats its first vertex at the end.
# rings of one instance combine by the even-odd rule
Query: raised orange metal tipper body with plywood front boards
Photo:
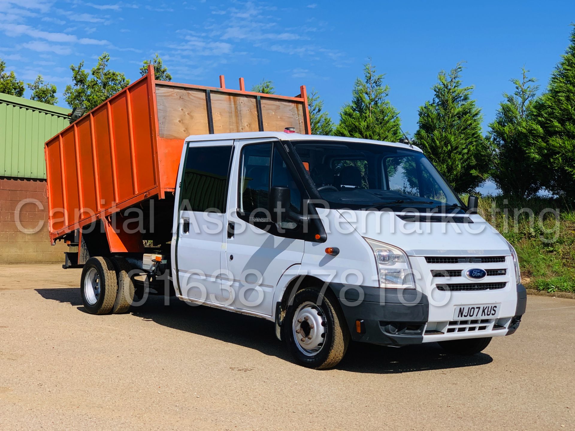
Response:
POLYGON ((150 66, 143 78, 48 140, 50 240, 174 191, 190 134, 281 131, 292 125, 285 118, 299 133, 310 133, 305 86, 285 97, 245 91, 243 79, 240 90, 224 88, 223 76, 220 85, 156 81, 150 66))

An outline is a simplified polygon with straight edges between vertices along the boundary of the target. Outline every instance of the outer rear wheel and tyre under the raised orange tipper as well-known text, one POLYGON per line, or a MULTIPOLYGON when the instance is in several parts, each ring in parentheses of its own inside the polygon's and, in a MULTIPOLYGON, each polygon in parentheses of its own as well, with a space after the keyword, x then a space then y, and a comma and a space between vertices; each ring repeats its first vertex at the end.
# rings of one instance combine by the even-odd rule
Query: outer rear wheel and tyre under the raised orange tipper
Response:
POLYGON ((90 314, 108 314, 114 307, 118 282, 108 257, 90 257, 80 279, 82 303, 90 314))

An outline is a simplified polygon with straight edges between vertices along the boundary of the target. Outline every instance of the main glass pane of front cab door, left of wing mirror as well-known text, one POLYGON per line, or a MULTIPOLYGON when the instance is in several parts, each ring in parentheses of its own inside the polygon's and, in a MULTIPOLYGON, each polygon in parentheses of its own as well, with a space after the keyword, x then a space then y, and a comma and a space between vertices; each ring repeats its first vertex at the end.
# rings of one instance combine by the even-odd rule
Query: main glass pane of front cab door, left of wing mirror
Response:
POLYGON ((270 191, 271 144, 246 145, 241 150, 240 210, 246 216, 264 217, 270 191))

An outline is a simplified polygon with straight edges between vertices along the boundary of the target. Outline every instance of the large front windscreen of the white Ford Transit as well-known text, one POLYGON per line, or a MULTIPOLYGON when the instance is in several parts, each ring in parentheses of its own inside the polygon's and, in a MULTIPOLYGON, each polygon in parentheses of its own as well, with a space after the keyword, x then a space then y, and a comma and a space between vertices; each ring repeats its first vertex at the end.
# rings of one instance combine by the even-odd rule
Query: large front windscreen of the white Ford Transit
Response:
POLYGON ((293 145, 321 197, 332 208, 461 206, 419 151, 340 141, 294 141, 293 145))

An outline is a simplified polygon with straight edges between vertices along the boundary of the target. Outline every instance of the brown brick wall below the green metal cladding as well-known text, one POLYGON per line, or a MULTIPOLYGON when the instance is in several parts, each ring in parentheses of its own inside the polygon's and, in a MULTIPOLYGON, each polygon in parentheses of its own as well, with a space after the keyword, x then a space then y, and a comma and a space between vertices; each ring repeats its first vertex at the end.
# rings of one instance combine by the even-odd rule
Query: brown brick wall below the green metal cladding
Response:
POLYGON ((48 237, 48 201, 46 180, 6 178, 0 176, 0 263, 63 263, 67 246, 60 241, 50 245, 48 237), (36 199, 20 207, 20 224, 23 229, 36 229, 36 233, 22 232, 16 222, 18 203, 22 199, 36 199))

